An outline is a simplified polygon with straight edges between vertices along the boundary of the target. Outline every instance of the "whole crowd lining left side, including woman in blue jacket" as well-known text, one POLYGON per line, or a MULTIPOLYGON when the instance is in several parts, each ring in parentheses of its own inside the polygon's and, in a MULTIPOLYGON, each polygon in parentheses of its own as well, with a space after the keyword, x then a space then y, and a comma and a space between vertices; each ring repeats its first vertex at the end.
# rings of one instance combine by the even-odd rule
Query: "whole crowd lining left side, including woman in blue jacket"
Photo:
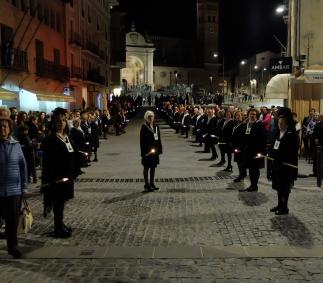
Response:
POLYGON ((81 169, 98 161, 99 139, 125 133, 129 118, 140 109, 131 97, 113 97, 109 107, 56 108, 51 114, 0 107, 0 228, 5 222, 8 253, 20 258, 17 229, 28 182, 37 183, 44 217, 54 214, 54 236, 68 238, 72 228, 64 224, 66 201, 74 196, 74 180, 81 169), (3 221, 4 220, 4 221, 3 221))

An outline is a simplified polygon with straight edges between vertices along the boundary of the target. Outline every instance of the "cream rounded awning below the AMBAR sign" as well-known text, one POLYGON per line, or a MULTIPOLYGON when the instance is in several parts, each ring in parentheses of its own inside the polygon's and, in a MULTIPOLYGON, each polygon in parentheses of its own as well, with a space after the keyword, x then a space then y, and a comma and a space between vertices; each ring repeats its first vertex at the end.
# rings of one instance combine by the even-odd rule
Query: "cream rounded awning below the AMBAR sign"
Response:
POLYGON ((289 74, 274 76, 267 84, 266 98, 288 99, 289 74))

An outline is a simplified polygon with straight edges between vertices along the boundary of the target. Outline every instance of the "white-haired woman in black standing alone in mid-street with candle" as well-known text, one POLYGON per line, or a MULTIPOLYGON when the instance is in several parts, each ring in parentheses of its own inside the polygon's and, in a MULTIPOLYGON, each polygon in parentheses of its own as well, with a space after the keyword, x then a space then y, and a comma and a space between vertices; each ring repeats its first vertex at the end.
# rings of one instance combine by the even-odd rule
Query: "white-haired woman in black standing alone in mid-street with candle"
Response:
POLYGON ((140 130, 141 163, 144 166, 145 192, 158 190, 154 180, 155 169, 159 164, 159 155, 163 153, 160 130, 154 124, 154 118, 154 112, 147 111, 144 116, 146 123, 142 125, 140 130), (150 181, 148 180, 148 173, 150 173, 150 181))

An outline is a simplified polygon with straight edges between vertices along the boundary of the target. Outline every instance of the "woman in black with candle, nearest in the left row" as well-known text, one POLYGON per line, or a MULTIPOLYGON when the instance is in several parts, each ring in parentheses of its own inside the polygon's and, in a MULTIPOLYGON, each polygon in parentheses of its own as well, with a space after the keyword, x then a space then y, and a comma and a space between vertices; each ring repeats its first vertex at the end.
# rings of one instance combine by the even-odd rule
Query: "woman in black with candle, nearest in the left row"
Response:
POLYGON ((44 142, 42 186, 44 195, 44 216, 53 209, 54 233, 58 238, 72 236, 72 229, 64 222, 66 201, 74 197, 74 179, 80 171, 77 164, 76 146, 67 135, 67 122, 64 114, 53 114, 51 133, 44 142))

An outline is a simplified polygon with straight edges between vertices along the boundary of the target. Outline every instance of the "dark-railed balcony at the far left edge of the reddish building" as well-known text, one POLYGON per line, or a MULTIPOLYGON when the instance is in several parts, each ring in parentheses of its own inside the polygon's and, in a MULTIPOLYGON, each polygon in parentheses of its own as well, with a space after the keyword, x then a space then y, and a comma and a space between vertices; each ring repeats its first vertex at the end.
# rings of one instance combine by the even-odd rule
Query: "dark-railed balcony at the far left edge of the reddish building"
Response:
POLYGON ((0 67, 18 72, 28 72, 27 52, 17 48, 0 46, 0 67))

